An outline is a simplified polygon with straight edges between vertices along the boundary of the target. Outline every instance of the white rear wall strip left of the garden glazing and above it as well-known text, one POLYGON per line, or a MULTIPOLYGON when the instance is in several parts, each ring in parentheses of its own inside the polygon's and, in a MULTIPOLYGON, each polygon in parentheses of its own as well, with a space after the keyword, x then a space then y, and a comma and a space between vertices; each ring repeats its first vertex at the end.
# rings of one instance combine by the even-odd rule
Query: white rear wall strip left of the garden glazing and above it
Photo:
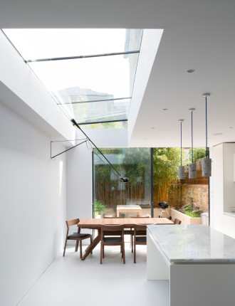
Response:
MULTIPOLYGON (((84 131, 98 148, 127 147, 127 129, 84 131)), ((84 135, 77 130, 76 138, 84 135)), ((92 150, 81 144, 66 153, 66 163, 67 219, 92 218, 92 150)))

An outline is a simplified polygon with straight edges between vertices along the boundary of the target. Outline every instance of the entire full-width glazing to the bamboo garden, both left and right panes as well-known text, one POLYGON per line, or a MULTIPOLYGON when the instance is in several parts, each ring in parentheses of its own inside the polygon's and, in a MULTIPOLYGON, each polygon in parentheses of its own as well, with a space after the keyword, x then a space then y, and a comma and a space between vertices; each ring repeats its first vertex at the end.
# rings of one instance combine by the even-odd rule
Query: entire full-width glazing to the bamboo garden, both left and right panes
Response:
MULTIPOLYGON (((93 217, 97 216, 151 216, 159 217, 158 204, 167 201, 169 208, 192 217, 200 217, 209 211, 209 179, 202 176, 202 158, 206 150, 194 148, 194 162, 197 164, 197 179, 189 179, 188 167, 192 152, 184 148, 182 165, 185 179, 178 180, 178 166, 181 163, 180 148, 119 148, 100 149, 115 169, 108 164, 98 150, 93 150, 93 217), (152 152, 152 156, 151 156, 152 152), (152 158, 152 184, 151 184, 152 158), (120 182, 120 176, 127 176, 129 183, 120 182), (151 207, 152 186, 152 207, 151 207)), ((172 211, 162 216, 171 216, 172 211)))

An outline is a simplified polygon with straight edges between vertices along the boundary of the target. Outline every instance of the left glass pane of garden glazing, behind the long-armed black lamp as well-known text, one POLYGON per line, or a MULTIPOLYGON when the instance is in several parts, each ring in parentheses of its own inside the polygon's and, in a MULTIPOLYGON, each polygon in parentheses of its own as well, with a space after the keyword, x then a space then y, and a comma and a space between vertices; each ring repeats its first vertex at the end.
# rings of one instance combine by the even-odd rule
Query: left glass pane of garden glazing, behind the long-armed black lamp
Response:
POLYGON ((100 149, 120 176, 97 149, 93 150, 94 217, 151 216, 151 149, 100 149))

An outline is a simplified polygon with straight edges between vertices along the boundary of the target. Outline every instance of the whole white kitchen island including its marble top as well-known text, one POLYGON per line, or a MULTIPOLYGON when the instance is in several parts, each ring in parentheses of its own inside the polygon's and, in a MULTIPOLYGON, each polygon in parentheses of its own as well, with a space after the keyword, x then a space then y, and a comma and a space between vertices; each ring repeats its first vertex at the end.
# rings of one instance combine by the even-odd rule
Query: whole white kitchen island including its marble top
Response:
POLYGON ((147 279, 169 280, 170 306, 234 306, 235 239, 202 225, 147 226, 147 279))

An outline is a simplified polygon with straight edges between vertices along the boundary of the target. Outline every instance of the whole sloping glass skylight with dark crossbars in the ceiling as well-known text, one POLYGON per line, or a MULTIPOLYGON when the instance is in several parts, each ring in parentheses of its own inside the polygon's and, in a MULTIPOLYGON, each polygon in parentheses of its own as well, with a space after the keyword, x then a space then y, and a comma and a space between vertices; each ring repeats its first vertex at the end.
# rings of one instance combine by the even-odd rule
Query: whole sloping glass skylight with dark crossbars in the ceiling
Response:
POLYGON ((69 119, 127 121, 142 30, 3 31, 69 119))

